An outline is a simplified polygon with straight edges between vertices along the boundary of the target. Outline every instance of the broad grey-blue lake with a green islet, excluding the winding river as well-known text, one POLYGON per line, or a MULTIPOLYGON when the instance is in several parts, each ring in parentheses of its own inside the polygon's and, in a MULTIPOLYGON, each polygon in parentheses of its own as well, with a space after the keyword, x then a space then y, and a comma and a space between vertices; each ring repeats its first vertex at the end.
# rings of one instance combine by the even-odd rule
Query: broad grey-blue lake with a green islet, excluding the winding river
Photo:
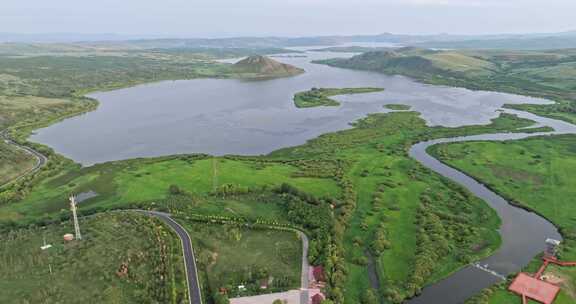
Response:
POLYGON ((517 95, 430 86, 405 77, 311 64, 350 56, 309 52, 276 58, 305 74, 265 81, 197 79, 165 81, 91 94, 100 107, 38 130, 46 144, 83 165, 178 153, 266 154, 349 127, 384 104, 404 103, 429 125, 487 124, 504 103, 543 103, 517 95), (383 87, 386 91, 342 96, 340 107, 297 109, 294 93, 311 87, 383 87))

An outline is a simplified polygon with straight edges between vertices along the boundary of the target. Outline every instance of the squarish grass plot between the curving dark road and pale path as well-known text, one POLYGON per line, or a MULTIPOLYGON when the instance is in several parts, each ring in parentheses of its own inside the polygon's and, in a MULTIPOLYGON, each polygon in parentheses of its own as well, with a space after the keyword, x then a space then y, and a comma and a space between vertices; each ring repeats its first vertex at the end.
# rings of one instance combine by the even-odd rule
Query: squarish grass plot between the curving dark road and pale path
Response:
POLYGON ((184 226, 192 237, 205 297, 221 288, 229 297, 300 288, 302 242, 295 232, 196 222, 184 226))

